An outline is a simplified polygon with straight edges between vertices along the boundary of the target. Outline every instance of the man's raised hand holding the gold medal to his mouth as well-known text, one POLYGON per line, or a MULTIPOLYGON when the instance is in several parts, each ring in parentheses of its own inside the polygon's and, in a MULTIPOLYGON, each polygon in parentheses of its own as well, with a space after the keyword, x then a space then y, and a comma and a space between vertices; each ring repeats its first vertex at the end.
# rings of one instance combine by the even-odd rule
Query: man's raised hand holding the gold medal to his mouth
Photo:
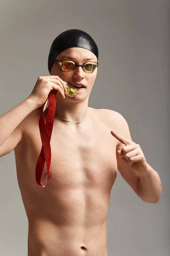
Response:
POLYGON ((64 92, 67 91, 68 86, 59 76, 40 76, 28 98, 35 101, 37 108, 40 108, 45 105, 48 94, 53 89, 57 90, 62 99, 65 99, 64 92))

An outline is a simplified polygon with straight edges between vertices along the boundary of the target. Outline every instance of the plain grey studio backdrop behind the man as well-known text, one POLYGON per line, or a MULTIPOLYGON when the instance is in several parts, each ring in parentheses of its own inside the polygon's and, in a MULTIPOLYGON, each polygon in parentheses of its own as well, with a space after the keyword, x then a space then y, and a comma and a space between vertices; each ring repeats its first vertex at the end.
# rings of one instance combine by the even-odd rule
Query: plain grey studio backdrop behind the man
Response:
MULTIPOLYGON (((169 10, 168 0, 0 1, 0 114, 49 75, 48 53, 59 33, 85 30, 99 47, 89 106, 121 113, 161 177, 159 203, 147 204, 118 173, 107 218, 108 256, 170 255, 169 10)), ((26 256, 28 221, 14 151, 0 158, 0 182, 0 256, 26 256)))

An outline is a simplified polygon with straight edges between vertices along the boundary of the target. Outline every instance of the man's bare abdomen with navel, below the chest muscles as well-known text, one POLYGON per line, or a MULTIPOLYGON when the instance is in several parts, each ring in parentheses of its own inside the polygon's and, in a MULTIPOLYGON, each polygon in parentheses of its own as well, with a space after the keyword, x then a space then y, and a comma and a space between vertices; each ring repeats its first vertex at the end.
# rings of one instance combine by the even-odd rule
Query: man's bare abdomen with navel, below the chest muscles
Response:
POLYGON ((107 256, 108 199, 89 188, 56 194, 27 204, 28 256, 107 256))

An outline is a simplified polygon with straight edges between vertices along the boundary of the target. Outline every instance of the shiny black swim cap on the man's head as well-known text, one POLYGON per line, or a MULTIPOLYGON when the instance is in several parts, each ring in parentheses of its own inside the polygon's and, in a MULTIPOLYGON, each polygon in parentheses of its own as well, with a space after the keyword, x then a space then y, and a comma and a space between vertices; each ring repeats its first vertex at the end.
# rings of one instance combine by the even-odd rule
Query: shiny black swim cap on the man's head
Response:
POLYGON ((93 52, 94 55, 96 55, 97 60, 99 58, 98 47, 93 38, 82 30, 70 29, 58 35, 51 45, 50 53, 48 55, 49 73, 51 72, 55 58, 59 55, 59 53, 72 47, 88 49, 93 52))

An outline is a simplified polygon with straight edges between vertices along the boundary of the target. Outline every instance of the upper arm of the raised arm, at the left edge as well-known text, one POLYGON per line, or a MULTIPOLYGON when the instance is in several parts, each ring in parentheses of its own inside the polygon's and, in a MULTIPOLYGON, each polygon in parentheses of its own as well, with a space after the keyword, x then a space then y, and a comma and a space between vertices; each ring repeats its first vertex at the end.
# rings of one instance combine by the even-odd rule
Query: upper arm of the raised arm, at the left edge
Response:
POLYGON ((3 145, 0 146, 0 157, 5 156, 10 153, 22 140, 22 129, 21 125, 11 133, 11 135, 6 139, 3 145))

